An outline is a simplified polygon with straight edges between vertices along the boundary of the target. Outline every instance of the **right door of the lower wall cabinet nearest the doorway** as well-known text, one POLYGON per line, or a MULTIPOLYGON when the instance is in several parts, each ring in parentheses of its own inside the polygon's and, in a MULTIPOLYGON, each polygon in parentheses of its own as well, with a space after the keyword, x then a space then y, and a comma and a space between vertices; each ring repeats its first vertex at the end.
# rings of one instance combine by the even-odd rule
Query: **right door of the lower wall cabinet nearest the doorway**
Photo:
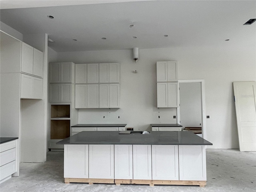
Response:
POLYGON ((168 83, 168 107, 178 107, 178 82, 168 83))

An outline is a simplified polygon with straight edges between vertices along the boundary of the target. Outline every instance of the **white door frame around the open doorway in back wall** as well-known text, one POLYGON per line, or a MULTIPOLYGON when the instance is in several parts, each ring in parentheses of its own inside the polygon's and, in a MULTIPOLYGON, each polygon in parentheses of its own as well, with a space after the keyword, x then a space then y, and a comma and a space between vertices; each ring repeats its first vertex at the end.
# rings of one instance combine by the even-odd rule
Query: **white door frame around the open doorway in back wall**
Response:
MULTIPOLYGON (((204 89, 204 79, 188 79, 188 80, 178 80, 179 83, 195 83, 199 82, 201 84, 201 114, 202 114, 202 137, 206 138, 206 113, 205 113, 205 89, 204 89)), ((180 98, 180 91, 178 97, 180 98)), ((179 101, 180 103, 180 101, 179 101)), ((180 108, 177 108, 177 123, 180 122, 180 108)))

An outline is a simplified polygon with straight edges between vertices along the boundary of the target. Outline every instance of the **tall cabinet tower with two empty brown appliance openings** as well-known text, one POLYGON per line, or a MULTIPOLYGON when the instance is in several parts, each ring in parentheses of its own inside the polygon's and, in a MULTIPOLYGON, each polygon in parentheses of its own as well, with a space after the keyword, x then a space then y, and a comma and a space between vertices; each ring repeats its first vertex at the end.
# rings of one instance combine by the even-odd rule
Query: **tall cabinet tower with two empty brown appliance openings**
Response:
POLYGON ((70 137, 71 126, 78 123, 75 109, 75 64, 49 63, 49 129, 48 148, 63 150, 56 142, 70 137))

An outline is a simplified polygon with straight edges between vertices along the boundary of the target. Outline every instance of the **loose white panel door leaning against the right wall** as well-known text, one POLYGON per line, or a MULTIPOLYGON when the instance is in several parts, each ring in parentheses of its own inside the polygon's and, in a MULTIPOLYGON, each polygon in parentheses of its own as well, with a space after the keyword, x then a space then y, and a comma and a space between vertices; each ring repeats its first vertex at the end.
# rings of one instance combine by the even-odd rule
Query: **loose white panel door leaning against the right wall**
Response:
POLYGON ((256 82, 234 82, 240 151, 256 151, 256 82))

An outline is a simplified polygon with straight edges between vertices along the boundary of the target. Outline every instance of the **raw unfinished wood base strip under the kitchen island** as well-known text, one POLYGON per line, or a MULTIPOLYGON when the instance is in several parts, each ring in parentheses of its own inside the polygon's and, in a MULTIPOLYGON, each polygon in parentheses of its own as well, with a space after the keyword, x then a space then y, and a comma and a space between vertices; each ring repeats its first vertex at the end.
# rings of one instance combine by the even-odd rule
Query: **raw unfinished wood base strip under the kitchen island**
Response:
POLYGON ((86 178, 64 178, 65 183, 105 183, 105 184, 146 184, 154 185, 198 185, 206 186, 206 181, 174 181, 174 180, 134 180, 134 179, 86 179, 86 178))

